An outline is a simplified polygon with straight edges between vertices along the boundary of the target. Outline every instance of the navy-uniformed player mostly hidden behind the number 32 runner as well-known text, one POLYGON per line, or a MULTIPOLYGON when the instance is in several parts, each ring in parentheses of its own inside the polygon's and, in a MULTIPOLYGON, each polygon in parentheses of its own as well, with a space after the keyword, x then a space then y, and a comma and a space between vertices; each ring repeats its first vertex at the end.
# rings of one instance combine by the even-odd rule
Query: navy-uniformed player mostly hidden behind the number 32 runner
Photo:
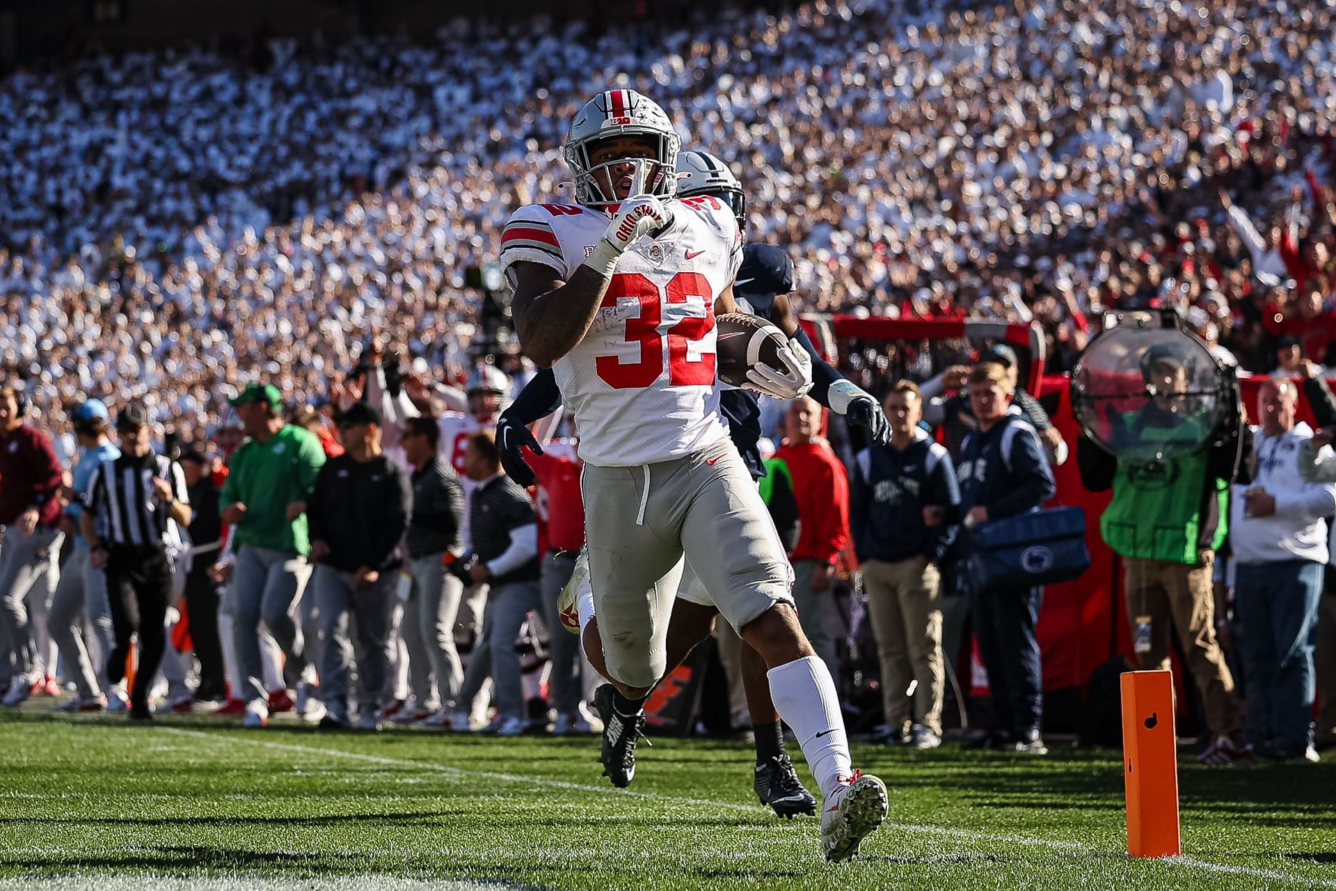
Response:
MULTIPOLYGON (((747 199, 741 183, 732 175, 720 159, 704 151, 684 151, 679 155, 677 196, 711 195, 724 202, 743 231, 747 215, 747 199)), ((733 282, 733 295, 741 311, 752 313, 774 322, 784 334, 796 338, 808 354, 814 369, 811 395, 824 405, 844 414, 854 423, 867 427, 868 435, 876 442, 884 442, 888 423, 876 401, 818 354, 815 346, 798 325, 796 315, 787 294, 794 290, 794 263, 788 254, 774 244, 747 244, 743 248, 743 263, 733 282)), ((561 402, 561 394, 550 371, 537 375, 516 398, 497 427, 497 441, 502 445, 502 461, 506 472, 529 485, 533 477, 521 452, 528 445, 541 454, 541 446, 525 425, 554 410, 561 402)), ((755 478, 766 476, 760 453, 760 406, 758 394, 745 389, 725 389, 720 393, 720 410, 728 421, 728 433, 737 446, 748 472, 755 478)), ((566 586, 566 601, 580 597, 578 588, 588 586, 588 573, 580 564, 574 581, 566 586)), ((677 602, 668 625, 668 671, 671 672, 689 655, 691 649, 711 632, 717 608, 709 593, 704 590, 691 568, 684 568, 683 582, 677 592, 677 602)), ((585 602, 589 596, 585 596, 585 602)), ((568 602, 562 604, 566 612, 568 602)), ((560 609, 560 606, 558 606, 560 609)), ((597 618, 585 622, 582 639, 592 664, 601 664, 601 647, 597 637, 597 618)), ((816 801, 803 788, 788 753, 784 751, 784 736, 779 716, 770 697, 766 680, 766 664, 751 648, 743 647, 743 683, 748 707, 752 712, 754 735, 756 737, 756 767, 754 787, 762 803, 770 804, 780 816, 811 814, 816 801)), ((604 704, 607 711, 607 704, 604 704)), ((636 716, 643 721, 641 716, 636 716)), ((616 740, 605 740, 605 773, 616 785, 627 785, 635 773, 636 736, 629 735, 625 752, 617 751, 616 740)))

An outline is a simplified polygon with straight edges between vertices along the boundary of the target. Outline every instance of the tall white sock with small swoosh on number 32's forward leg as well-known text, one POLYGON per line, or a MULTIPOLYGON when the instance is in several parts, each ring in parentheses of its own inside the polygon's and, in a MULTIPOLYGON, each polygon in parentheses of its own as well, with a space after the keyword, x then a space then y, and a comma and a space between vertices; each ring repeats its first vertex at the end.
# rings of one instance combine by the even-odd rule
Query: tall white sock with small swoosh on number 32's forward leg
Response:
POLYGON ((830 669, 816 656, 807 656, 770 669, 766 677, 775 711, 798 737, 822 797, 830 797, 840 779, 854 772, 830 669))

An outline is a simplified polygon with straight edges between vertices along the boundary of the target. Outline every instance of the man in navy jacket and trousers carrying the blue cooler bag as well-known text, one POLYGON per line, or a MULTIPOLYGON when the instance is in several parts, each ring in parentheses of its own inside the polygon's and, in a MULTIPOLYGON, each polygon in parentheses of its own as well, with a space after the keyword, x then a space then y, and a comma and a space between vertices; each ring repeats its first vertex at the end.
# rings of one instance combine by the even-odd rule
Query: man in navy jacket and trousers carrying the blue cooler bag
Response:
MULTIPOLYGON (((1057 485, 1038 434, 1010 411, 1011 378, 997 362, 970 371, 970 407, 979 422, 961 449, 959 514, 966 526, 1034 510, 1057 485)), ((935 505, 925 520, 949 522, 951 512, 935 505)), ((966 532, 965 534, 969 534, 966 532)), ((1039 736, 1043 720, 1043 669, 1039 661, 1039 606, 1043 588, 970 592, 974 635, 989 673, 993 729, 979 744, 1046 755, 1039 736)))

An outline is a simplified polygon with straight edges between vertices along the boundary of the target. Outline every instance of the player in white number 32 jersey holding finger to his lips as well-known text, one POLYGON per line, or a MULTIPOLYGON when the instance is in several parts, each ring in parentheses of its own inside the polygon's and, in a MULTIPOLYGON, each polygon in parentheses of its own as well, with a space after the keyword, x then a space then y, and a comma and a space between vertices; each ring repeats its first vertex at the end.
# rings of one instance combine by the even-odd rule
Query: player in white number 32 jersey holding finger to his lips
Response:
MULTIPOLYGON (((673 198, 677 148, 657 104, 605 91, 564 146, 577 204, 522 207, 502 231, 521 346, 553 369, 581 431, 592 598, 615 687, 600 703, 604 761, 633 751, 668 668, 685 554, 767 664, 824 799, 824 854, 843 860, 884 820, 886 785, 851 767, 835 684, 798 624, 783 545, 720 414, 715 314, 737 310, 741 232, 724 202, 673 198)), ((804 393, 802 347, 779 359, 759 375, 767 391, 804 393)))

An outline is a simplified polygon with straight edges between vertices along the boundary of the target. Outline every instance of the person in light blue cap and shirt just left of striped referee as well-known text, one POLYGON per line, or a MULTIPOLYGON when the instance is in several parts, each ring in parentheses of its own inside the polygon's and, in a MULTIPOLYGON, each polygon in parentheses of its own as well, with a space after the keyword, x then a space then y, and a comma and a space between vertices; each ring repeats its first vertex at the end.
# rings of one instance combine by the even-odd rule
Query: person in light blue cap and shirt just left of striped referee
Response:
MULTIPOLYGON (((120 449, 107 435, 111 431, 111 413, 99 399, 90 399, 75 409, 73 422, 80 452, 73 469, 72 497, 61 518, 61 529, 73 540, 73 552, 60 568, 60 581, 48 616, 51 636, 60 648, 64 676, 75 684, 73 699, 59 708, 98 712, 111 705, 116 711, 124 711, 128 707, 124 696, 106 683, 106 659, 115 648, 111 608, 107 602, 107 574, 90 565, 88 540, 79 532, 79 514, 88 497, 88 481, 99 466, 119 458, 120 449), (96 636, 96 665, 84 645, 86 627, 96 636)), ((106 529, 98 529, 98 534, 106 534, 106 529)))

